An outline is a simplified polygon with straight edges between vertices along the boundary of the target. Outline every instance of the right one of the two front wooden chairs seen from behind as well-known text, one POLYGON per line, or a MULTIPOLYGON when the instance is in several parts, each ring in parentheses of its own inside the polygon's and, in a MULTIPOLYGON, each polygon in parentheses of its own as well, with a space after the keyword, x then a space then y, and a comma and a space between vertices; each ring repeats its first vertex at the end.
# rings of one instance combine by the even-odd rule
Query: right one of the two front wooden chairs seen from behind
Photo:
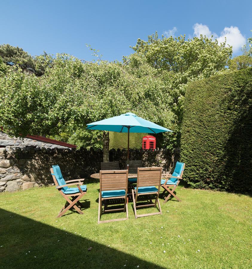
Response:
POLYGON ((138 168, 137 187, 132 189, 135 218, 162 214, 161 206, 158 199, 161 185, 161 176, 161 167, 138 168), (155 186, 157 186, 158 188, 156 188, 155 186), (143 198, 140 200, 140 197, 138 198, 138 196, 140 195, 156 195, 155 203, 153 204, 152 199, 149 198, 143 198), (149 200, 150 204, 137 205, 137 201, 146 200, 149 200), (159 212, 137 215, 137 208, 150 206, 156 207, 157 203, 159 212))

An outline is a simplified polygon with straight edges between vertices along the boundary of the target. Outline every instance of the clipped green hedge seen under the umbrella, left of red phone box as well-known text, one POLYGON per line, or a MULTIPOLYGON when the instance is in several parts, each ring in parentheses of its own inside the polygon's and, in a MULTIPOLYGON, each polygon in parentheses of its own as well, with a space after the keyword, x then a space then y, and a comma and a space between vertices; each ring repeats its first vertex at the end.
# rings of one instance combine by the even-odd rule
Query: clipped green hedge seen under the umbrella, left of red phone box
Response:
MULTIPOLYGON (((131 149, 142 148, 143 137, 148 134, 144 133, 130 133, 129 147, 131 149)), ((109 149, 127 149, 128 148, 128 134, 109 132, 109 149)))

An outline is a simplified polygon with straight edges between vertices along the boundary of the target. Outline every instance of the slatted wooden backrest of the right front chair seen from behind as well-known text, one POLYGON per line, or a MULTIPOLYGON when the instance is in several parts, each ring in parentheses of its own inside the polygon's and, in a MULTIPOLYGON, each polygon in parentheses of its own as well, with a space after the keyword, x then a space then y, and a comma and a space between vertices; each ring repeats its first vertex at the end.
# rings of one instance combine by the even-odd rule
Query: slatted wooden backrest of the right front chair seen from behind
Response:
POLYGON ((161 167, 144 167, 138 168, 138 187, 159 186, 161 183, 161 167))

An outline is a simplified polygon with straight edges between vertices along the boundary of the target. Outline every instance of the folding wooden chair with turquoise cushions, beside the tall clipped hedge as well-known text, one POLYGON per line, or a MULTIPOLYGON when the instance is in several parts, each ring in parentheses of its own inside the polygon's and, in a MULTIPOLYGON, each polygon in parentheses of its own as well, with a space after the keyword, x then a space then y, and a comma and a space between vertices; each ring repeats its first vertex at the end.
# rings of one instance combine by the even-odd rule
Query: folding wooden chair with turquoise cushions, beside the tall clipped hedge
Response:
POLYGON ((163 196, 165 192, 169 192, 169 195, 165 197, 164 203, 167 202, 167 200, 171 197, 171 195, 181 202, 178 196, 174 194, 174 191, 178 187, 178 184, 182 179, 184 169, 185 169, 185 163, 177 162, 172 175, 166 175, 165 176, 166 179, 161 180, 161 187, 164 188, 164 191, 162 192, 161 195, 163 196), (169 189, 170 187, 173 187, 173 189, 169 189))

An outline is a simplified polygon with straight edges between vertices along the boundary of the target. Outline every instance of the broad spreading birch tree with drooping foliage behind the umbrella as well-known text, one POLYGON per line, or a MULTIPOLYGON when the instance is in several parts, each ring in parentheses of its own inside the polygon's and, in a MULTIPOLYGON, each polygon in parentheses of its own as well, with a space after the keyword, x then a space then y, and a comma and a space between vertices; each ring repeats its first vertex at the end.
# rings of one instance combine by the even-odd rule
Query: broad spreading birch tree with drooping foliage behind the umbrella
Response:
POLYGON ((174 116, 164 102, 167 91, 157 71, 137 55, 130 60, 127 66, 105 61, 83 63, 59 54, 41 77, 20 68, 2 76, 0 125, 15 136, 66 132, 72 139, 88 135, 88 140, 97 144, 102 142, 92 140, 97 132, 84 132, 87 123, 132 111, 172 129, 174 116))

